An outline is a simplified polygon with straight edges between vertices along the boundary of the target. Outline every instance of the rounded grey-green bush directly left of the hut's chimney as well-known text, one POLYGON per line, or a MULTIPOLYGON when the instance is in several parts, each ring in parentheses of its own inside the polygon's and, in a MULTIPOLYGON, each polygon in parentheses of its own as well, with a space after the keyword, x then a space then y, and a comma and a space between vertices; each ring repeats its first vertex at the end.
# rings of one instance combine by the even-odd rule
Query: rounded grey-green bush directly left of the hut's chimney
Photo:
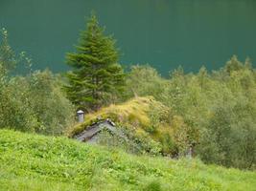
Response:
MULTIPOLYGON (((50 71, 35 72, 28 79, 37 133, 59 135, 73 124, 75 110, 61 91, 61 81, 50 71)), ((18 82, 17 82, 18 83, 18 82)))

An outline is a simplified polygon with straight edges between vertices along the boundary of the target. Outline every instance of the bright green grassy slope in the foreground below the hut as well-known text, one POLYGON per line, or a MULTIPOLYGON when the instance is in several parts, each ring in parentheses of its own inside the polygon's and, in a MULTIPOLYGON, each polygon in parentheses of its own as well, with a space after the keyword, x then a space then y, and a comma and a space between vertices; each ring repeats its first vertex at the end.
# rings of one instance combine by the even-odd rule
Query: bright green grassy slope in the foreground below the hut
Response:
POLYGON ((0 190, 256 190, 256 172, 0 130, 0 190))

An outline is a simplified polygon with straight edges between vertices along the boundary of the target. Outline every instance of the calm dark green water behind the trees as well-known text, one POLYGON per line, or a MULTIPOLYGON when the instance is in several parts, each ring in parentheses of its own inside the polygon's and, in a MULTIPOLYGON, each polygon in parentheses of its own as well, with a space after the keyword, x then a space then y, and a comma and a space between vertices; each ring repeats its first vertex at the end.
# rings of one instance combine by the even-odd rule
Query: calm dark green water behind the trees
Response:
POLYGON ((256 63, 254 0, 0 0, 0 27, 36 69, 62 72, 91 10, 118 40, 124 65, 168 74, 178 65, 219 69, 232 54, 256 63))

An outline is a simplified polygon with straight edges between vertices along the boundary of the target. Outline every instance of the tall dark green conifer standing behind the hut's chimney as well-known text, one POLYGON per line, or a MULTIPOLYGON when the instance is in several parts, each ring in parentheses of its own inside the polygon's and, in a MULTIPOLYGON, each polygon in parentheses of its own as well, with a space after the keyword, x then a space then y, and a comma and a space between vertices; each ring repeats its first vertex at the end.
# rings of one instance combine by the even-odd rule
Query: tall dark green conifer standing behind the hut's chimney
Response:
POLYGON ((124 72, 118 64, 115 41, 104 34, 95 14, 81 32, 76 53, 67 53, 67 63, 73 71, 67 74, 67 96, 79 108, 97 110, 109 98, 123 89, 124 72))

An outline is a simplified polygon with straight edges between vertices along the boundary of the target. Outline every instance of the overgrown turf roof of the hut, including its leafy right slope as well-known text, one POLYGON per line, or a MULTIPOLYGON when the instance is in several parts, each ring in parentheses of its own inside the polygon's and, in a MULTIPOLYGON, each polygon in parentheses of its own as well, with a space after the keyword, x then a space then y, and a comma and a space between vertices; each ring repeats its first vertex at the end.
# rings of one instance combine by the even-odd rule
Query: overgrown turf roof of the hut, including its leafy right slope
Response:
MULTIPOLYGON (((136 97, 122 104, 111 104, 97 112, 87 114, 85 121, 71 127, 67 135, 72 138, 93 122, 110 118, 127 134, 132 145, 136 145, 135 153, 157 155, 164 146, 160 144, 162 138, 159 135, 170 135, 166 120, 168 114, 168 108, 151 96, 136 97)), ((162 143, 164 144, 163 141, 162 143)), ((166 150, 166 153, 170 153, 170 150, 166 150)))

